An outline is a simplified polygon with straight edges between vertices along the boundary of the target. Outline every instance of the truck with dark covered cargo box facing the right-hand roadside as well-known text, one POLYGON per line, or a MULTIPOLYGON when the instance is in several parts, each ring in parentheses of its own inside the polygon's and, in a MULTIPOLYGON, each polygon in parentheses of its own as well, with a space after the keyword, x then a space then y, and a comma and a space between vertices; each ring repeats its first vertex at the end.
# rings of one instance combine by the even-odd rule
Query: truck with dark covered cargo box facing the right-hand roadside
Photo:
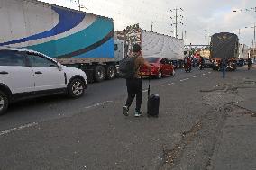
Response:
POLYGON ((221 69, 221 59, 227 59, 227 68, 236 70, 239 55, 239 40, 234 33, 220 32, 212 35, 210 44, 210 60, 214 70, 221 69))

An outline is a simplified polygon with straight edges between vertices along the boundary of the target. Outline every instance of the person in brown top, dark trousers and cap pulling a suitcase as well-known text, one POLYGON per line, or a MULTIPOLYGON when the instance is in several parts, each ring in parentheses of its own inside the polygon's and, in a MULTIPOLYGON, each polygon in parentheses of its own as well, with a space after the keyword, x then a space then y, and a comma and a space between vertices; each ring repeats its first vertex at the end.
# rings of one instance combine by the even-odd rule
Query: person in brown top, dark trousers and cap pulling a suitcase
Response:
POLYGON ((142 57, 141 46, 139 44, 133 45, 133 56, 134 60, 134 76, 133 78, 126 78, 126 87, 128 97, 125 105, 123 106, 123 114, 125 116, 129 115, 129 107, 133 103, 133 99, 136 96, 136 108, 135 117, 140 117, 142 115, 141 105, 142 105, 142 78, 139 75, 140 67, 146 66, 151 69, 151 65, 142 57))

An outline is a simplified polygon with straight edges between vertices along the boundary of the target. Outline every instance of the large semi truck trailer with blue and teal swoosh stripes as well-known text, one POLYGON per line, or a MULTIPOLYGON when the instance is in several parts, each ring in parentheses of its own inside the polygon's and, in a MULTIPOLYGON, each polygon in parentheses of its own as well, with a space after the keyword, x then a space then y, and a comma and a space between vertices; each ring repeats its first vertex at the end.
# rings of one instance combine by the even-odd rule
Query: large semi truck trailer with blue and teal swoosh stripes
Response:
POLYGON ((39 51, 84 70, 90 81, 113 79, 123 59, 114 57, 111 18, 36 0, 1 0, 0 22, 0 46, 39 51))

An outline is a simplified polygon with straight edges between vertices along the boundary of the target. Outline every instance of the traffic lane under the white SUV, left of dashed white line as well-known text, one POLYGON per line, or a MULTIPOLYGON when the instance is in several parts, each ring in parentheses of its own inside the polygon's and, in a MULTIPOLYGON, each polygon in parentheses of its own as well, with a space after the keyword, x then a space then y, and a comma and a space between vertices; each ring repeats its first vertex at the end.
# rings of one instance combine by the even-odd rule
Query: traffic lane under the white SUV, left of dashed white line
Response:
MULTIPOLYGON (((173 77, 151 79, 151 87, 167 85, 172 82, 175 83, 190 76, 198 76, 207 71, 208 70, 199 71, 196 68, 193 69, 191 73, 185 73, 184 69, 178 69, 176 70, 176 75, 173 77)), ((148 80, 143 79, 142 84, 144 91, 146 91, 148 80)), ((54 95, 14 103, 10 106, 7 113, 1 116, 0 130, 7 130, 32 122, 72 116, 73 114, 82 112, 87 109, 87 107, 111 102, 120 95, 123 95, 124 103, 126 97, 125 80, 118 78, 111 81, 89 84, 85 95, 75 100, 65 95, 54 95)), ((87 112, 84 113, 86 114, 87 112)))

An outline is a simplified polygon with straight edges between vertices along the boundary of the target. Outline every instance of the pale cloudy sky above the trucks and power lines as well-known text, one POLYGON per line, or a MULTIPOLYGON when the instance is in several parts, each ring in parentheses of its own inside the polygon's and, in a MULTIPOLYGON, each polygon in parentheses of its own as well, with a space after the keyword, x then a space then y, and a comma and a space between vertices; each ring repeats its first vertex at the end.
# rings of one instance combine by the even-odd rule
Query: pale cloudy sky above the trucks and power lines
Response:
MULTIPOLYGON (((78 10, 78 0, 41 1, 78 10)), ((177 8, 178 38, 183 35, 186 45, 209 44, 210 36, 218 32, 235 33, 240 43, 250 47, 254 39, 256 0, 79 0, 79 3, 85 7, 81 8, 84 12, 113 18, 114 31, 139 23, 144 30, 151 31, 152 25, 153 31, 174 36, 177 8)))

